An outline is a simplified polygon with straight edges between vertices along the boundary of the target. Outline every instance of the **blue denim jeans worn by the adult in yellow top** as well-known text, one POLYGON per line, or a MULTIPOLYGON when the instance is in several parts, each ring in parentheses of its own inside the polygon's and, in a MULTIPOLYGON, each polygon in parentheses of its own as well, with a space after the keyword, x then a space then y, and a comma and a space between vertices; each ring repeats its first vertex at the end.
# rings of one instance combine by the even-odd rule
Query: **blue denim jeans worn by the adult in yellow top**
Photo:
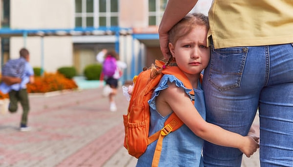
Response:
MULTIPOLYGON (((261 166, 293 167, 293 44, 211 46, 203 89, 208 122, 245 136, 258 109, 261 166)), ((241 166, 236 148, 205 142, 203 154, 205 167, 241 166)))

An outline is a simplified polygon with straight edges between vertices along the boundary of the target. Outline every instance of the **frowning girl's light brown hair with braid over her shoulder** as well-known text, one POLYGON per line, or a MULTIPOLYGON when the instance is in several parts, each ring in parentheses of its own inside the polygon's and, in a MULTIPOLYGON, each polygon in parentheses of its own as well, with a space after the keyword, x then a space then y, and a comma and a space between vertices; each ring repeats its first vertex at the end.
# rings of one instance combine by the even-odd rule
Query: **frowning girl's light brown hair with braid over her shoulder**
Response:
MULTIPOLYGON (((187 14, 168 31, 168 43, 176 44, 178 39, 188 35, 196 26, 206 26, 206 28, 209 29, 208 17, 201 13, 187 14)), ((157 67, 152 64, 150 75, 151 78, 156 77, 164 68, 170 65, 170 63, 175 63, 170 50, 168 54, 170 55, 170 58, 167 60, 164 67, 157 70, 157 67)))

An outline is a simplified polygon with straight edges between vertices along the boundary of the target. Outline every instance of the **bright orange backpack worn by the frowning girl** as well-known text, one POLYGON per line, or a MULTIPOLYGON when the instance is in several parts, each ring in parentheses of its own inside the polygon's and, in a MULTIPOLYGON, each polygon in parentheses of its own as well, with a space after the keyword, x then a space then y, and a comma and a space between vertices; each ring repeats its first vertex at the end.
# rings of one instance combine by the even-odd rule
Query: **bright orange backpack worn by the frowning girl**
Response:
MULTIPOLYGON (((155 61, 158 69, 164 66, 164 64, 162 61, 155 61)), ((191 89, 190 95, 193 95, 192 97, 194 98, 194 92, 187 76, 178 67, 168 66, 152 79, 150 78, 151 70, 148 69, 137 76, 129 101, 127 115, 123 115, 125 126, 124 146, 130 155, 139 158, 146 151, 148 144, 158 140, 152 166, 158 166, 159 164, 164 137, 183 125, 183 122, 173 112, 166 120, 163 129, 152 136, 148 136, 150 112, 147 101, 151 98, 153 91, 164 74, 176 76, 184 83, 185 87, 191 89)), ((194 104, 194 99, 192 102, 194 104)))

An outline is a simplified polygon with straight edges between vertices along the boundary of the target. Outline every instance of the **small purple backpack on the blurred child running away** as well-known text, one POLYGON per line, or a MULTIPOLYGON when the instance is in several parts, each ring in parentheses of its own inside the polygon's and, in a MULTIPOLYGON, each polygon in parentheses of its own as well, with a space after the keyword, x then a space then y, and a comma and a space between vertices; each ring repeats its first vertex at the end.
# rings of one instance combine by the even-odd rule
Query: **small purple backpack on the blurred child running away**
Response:
POLYGON ((103 62, 103 74, 107 77, 111 77, 114 75, 117 69, 116 59, 112 56, 107 56, 103 62))

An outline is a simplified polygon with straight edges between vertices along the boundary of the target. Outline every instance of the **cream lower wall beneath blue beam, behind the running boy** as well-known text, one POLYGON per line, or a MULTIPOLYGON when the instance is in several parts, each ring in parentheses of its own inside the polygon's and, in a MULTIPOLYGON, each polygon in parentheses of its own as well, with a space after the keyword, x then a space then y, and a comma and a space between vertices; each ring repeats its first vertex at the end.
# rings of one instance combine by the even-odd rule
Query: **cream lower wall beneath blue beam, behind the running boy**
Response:
MULTIPOLYGON (((19 50, 24 46, 24 39, 12 37, 10 42, 10 58, 18 58, 19 50)), ((43 65, 46 72, 56 72, 60 67, 73 65, 71 37, 44 37, 43 58, 41 44, 41 37, 28 37, 26 40, 25 48, 30 52, 30 64, 33 67, 43 65)))

